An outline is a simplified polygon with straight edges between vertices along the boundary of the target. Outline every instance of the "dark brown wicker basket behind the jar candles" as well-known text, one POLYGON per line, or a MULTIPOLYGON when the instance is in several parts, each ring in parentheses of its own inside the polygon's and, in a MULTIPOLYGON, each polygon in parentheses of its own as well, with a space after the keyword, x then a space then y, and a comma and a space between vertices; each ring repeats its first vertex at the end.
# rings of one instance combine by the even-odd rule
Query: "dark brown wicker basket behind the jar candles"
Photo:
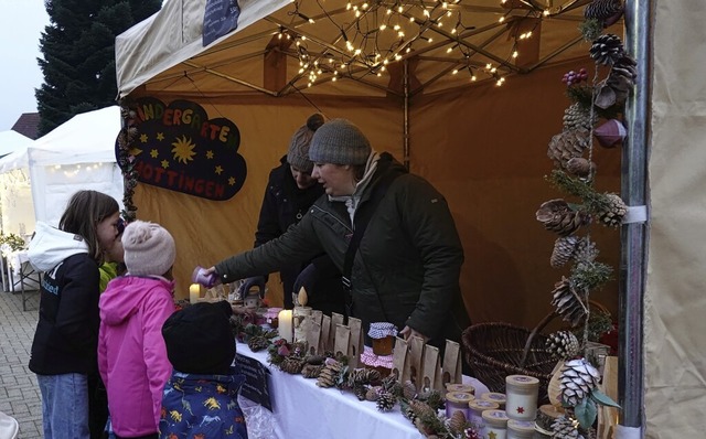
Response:
POLYGON ((463 354, 473 375, 491 392, 505 392, 507 375, 530 375, 539 379, 539 404, 548 401, 547 386, 557 360, 546 349, 547 336, 536 333, 525 364, 522 358, 531 335, 525 328, 509 323, 478 323, 463 331, 463 354))

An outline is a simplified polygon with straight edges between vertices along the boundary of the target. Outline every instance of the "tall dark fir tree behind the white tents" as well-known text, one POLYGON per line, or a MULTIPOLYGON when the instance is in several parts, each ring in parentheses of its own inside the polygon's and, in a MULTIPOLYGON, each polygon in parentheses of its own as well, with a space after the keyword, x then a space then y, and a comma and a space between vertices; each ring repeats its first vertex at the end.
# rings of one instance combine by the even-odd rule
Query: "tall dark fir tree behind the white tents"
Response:
POLYGON ((74 115, 115 104, 115 38, 145 20, 162 0, 45 0, 50 25, 38 58, 40 136, 74 115))

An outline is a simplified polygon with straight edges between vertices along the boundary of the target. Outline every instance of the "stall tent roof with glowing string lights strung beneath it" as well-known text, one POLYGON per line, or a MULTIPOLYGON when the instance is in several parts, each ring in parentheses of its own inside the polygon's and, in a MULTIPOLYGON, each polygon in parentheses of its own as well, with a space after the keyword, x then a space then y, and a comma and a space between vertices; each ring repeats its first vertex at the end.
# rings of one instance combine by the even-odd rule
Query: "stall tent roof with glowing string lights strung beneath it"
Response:
POLYGON ((578 47, 577 26, 588 0, 361 1, 351 8, 342 0, 240 1, 237 29, 203 47, 205 3, 171 0, 118 35, 121 97, 138 87, 180 96, 402 95, 399 60, 409 60, 415 95, 466 86, 471 76, 498 81, 585 60, 587 50, 578 47))

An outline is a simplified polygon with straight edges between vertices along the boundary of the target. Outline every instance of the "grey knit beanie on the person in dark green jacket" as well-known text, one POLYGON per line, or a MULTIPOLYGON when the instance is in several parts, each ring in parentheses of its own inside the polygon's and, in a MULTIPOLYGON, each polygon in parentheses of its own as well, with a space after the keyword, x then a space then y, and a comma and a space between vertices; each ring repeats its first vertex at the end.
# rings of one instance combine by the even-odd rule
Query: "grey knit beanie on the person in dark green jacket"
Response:
POLYGON ((365 164, 371 151, 371 142, 359 127, 345 119, 333 119, 314 132, 309 159, 314 163, 365 164))

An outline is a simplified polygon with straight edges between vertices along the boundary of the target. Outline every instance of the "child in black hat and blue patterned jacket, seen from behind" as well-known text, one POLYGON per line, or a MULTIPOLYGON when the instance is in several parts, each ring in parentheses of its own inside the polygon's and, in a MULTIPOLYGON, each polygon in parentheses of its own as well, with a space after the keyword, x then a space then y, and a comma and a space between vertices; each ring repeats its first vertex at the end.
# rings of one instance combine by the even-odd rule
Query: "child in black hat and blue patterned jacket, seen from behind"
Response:
POLYGON ((232 366, 232 313, 226 301, 201 302, 164 322, 162 335, 174 371, 162 396, 160 438, 247 439, 237 400, 245 376, 232 366))

